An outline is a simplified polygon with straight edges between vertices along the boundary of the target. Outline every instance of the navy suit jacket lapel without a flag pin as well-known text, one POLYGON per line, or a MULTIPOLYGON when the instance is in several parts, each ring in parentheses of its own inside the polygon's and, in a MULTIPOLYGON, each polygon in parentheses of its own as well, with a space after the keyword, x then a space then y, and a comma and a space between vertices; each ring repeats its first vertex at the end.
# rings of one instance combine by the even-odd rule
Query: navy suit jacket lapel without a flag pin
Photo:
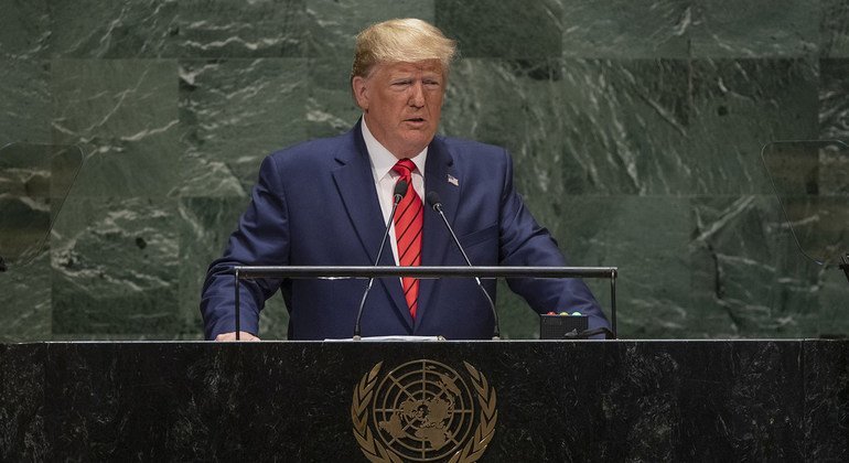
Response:
MULTIPOLYGON (((380 245, 386 223, 384 223, 384 215, 377 201, 372 164, 368 160, 368 151, 363 140, 359 123, 357 122, 351 132, 351 144, 336 153, 336 162, 340 163, 340 166, 333 171, 333 180, 359 244, 368 255, 370 265, 377 258, 377 248, 380 245)), ((388 240, 384 246, 379 263, 381 266, 395 265, 393 249, 388 240)), ((384 278, 379 281, 389 294, 395 309, 407 322, 408 327, 412 327, 412 317, 407 308, 407 301, 404 299, 400 279, 384 278)))

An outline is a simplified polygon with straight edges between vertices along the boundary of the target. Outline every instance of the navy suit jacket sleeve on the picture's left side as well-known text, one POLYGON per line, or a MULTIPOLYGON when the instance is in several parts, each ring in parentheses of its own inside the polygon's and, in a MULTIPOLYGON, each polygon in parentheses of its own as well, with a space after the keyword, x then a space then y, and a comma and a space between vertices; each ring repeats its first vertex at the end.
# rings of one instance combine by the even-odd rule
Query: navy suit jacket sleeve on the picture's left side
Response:
MULTIPOLYGON (((281 175, 273 155, 266 158, 251 193, 251 202, 229 238, 222 258, 206 272, 201 295, 204 334, 214 340, 234 332, 235 282, 232 269, 239 265, 284 266, 289 261, 289 222, 281 175)), ((241 280, 240 329, 257 334, 259 311, 280 288, 280 279, 241 280)))

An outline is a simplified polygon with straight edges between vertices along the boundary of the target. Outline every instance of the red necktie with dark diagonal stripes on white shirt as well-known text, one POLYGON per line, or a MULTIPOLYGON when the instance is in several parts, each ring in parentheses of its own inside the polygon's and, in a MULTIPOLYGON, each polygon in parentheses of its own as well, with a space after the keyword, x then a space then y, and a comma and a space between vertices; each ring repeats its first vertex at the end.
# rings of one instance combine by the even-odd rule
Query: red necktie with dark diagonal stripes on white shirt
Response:
MULTIPOLYGON (((401 267, 421 265, 421 226, 423 223, 423 209, 421 198, 412 187, 412 171, 416 164, 409 159, 402 159, 393 166, 409 187, 407 194, 395 213, 395 238, 398 243, 398 263, 401 267)), ((410 315, 416 319, 416 310, 419 308, 419 280, 410 277, 401 278, 404 298, 410 308, 410 315)))

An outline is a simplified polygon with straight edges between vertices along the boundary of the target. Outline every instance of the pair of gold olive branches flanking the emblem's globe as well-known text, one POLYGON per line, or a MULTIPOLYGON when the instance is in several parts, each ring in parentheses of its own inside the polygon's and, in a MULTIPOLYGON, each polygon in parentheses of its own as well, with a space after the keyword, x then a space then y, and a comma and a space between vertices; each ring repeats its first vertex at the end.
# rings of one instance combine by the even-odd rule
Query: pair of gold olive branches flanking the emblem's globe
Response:
MULTIPOLYGON (((383 362, 377 363, 370 372, 363 375, 359 384, 354 388, 354 400, 351 403, 351 420, 354 423, 354 437, 359 443, 368 461, 374 463, 402 463, 404 460, 386 449, 378 439, 372 433, 368 426, 368 403, 372 401, 377 377, 380 373, 383 362)), ((468 362, 463 362, 472 384, 477 392, 477 402, 481 406, 480 422, 474 431, 473 439, 458 450, 449 460, 449 463, 473 463, 476 462, 486 451, 486 446, 495 435, 495 422, 498 420, 498 410, 495 405, 497 401, 495 389, 490 387, 486 377, 475 369, 468 362)))

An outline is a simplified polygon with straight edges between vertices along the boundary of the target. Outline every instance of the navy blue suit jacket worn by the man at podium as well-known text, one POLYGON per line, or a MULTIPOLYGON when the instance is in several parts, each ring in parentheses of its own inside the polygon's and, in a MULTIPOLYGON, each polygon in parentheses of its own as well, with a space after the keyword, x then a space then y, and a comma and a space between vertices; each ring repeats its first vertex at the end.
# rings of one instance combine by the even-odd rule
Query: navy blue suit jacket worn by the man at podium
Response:
MULTIPOLYGON (((473 265, 567 265, 514 191, 513 163, 503 148, 436 137, 424 189, 439 194, 473 265), (456 182, 449 182, 449 175, 456 182)), ((424 214, 421 265, 464 266, 441 218, 429 207, 424 214)), ((224 256, 209 266, 201 302, 206 337, 235 331, 233 266, 370 266, 385 225, 359 123, 340 137, 269 155, 238 229, 224 256)), ((380 265, 395 265, 388 241, 380 265)), ((580 311, 590 316, 590 327, 609 326, 581 280, 507 283, 537 312, 580 311)), ((280 290, 290 313, 289 338, 351 337, 365 287, 366 280, 244 280, 241 330, 258 332, 259 311, 280 290)), ((495 282, 484 280, 484 287, 494 299, 495 282)), ((420 280, 415 320, 400 279, 377 280, 363 316, 363 336, 488 338, 492 332, 491 310, 473 279, 420 280)))

